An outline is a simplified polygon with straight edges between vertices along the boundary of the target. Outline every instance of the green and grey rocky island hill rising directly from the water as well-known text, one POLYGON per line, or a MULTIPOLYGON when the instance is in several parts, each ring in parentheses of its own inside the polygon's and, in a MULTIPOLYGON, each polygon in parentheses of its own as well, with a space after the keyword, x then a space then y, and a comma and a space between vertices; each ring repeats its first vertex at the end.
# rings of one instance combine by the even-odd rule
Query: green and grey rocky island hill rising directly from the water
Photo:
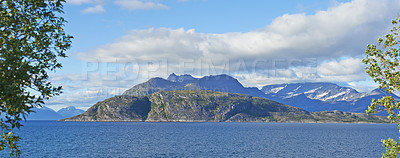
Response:
POLYGON ((387 122, 387 119, 339 111, 310 113, 243 94, 177 90, 148 96, 115 96, 61 121, 387 122))

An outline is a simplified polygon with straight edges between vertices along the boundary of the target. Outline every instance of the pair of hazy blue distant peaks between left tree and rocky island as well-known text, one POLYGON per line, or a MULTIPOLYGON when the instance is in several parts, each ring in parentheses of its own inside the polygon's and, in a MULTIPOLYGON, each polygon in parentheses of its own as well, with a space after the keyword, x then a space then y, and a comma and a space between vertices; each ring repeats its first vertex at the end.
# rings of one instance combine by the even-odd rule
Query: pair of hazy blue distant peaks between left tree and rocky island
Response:
POLYGON ((57 112, 46 106, 43 106, 42 108, 34 108, 33 111, 35 112, 30 113, 27 120, 60 120, 85 112, 84 110, 76 109, 73 106, 62 108, 57 112))

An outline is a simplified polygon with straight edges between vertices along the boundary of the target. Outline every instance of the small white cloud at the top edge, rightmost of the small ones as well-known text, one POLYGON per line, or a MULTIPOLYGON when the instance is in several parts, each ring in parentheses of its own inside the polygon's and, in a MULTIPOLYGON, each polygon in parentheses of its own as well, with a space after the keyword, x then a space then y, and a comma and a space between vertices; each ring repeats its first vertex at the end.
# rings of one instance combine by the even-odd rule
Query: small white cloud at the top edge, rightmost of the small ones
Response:
POLYGON ((168 7, 164 4, 154 2, 154 1, 144 1, 144 0, 115 0, 116 5, 128 10, 151 10, 151 9, 167 9, 168 7))

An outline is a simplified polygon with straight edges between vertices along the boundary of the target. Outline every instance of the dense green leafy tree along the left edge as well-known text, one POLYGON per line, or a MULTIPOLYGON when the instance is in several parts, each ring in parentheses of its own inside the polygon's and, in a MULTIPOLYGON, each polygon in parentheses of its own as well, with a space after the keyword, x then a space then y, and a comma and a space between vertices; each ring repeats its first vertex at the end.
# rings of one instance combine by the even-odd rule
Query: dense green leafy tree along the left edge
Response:
POLYGON ((11 156, 19 156, 13 129, 41 107, 44 101, 61 93, 48 81, 47 71, 61 68, 57 57, 66 57, 72 36, 64 32, 60 16, 65 0, 0 1, 0 150, 7 146, 11 156))

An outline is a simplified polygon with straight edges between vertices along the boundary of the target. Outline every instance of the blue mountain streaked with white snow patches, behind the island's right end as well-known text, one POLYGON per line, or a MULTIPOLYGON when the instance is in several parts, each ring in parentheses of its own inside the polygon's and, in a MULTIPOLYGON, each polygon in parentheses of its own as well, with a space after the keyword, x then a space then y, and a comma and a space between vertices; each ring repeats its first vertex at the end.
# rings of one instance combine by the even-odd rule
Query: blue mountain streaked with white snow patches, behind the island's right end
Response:
MULTIPOLYGON (((389 95, 378 89, 360 93, 349 87, 326 82, 267 85, 261 91, 266 94, 265 98, 311 112, 340 110, 364 113, 372 99, 389 95)), ((399 99, 396 95, 393 97, 399 99)))

